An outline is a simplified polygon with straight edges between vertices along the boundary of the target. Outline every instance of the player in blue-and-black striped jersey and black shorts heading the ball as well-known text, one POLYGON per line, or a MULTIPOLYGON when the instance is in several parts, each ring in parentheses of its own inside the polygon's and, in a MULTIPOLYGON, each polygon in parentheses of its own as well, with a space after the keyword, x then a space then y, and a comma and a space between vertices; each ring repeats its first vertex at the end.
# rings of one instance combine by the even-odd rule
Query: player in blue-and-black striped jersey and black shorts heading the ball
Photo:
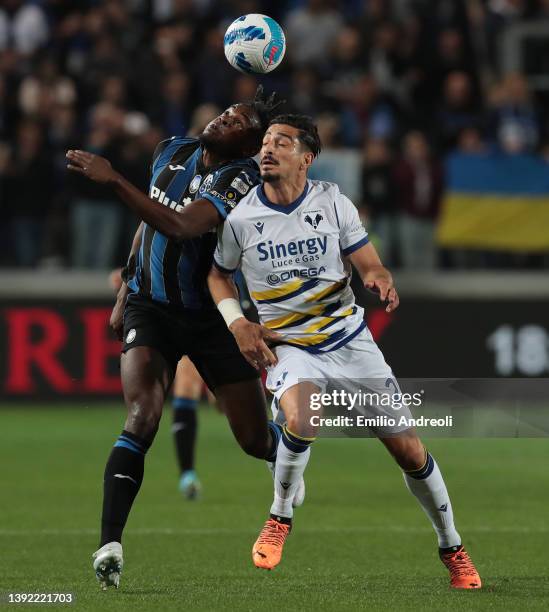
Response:
POLYGON ((106 159, 86 151, 67 152, 69 170, 110 187, 143 220, 111 316, 123 339, 121 377, 128 416, 105 468, 101 541, 94 553, 103 588, 119 584, 122 531, 183 355, 215 393, 242 449, 268 461, 276 456, 280 431, 267 422, 259 373, 242 357, 215 308, 207 275, 217 226, 259 182, 252 157, 278 105, 274 95, 265 99, 260 88, 254 101, 229 107, 199 138, 160 143, 148 196, 106 159))

